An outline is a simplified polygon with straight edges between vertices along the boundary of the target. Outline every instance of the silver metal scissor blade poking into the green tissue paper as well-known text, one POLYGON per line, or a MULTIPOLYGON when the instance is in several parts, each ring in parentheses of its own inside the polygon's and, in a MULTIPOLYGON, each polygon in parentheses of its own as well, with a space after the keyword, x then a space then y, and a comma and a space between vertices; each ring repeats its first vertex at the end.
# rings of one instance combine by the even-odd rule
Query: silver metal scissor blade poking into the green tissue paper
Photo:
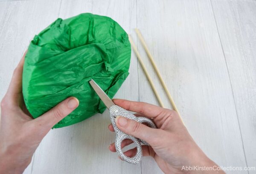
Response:
POLYGON ((109 109, 112 105, 114 105, 113 101, 108 97, 108 95, 99 87, 96 82, 91 79, 89 81, 90 85, 93 87, 95 92, 99 95, 99 98, 103 101, 106 107, 109 109))

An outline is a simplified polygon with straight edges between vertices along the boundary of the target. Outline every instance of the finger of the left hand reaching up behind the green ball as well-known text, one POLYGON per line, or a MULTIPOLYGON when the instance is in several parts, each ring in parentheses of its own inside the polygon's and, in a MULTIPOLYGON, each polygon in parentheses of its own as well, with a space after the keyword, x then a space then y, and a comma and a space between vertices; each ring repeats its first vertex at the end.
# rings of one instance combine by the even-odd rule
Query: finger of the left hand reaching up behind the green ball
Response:
POLYGON ((26 52, 27 51, 23 54, 19 64, 13 72, 12 80, 6 93, 9 102, 13 104, 18 104, 20 101, 20 94, 22 92, 22 73, 26 52))

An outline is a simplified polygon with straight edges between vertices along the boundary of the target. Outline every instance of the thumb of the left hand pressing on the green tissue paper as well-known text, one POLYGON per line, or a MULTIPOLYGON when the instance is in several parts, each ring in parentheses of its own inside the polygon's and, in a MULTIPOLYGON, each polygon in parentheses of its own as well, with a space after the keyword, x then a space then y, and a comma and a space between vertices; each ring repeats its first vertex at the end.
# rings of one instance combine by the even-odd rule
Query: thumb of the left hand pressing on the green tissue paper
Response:
POLYGON ((78 105, 79 100, 77 98, 67 98, 33 121, 40 123, 46 129, 51 129, 56 123, 76 109, 78 105))

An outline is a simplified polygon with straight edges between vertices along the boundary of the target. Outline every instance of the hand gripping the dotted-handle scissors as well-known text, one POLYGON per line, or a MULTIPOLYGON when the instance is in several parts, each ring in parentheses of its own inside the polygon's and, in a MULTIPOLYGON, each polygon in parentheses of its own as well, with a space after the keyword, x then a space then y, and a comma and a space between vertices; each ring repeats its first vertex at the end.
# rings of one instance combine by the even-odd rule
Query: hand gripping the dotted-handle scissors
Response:
MULTIPOLYGON (((143 156, 151 156, 164 173, 224 173, 221 170, 185 171, 183 166, 218 167, 198 147, 189 135, 177 112, 157 107, 152 104, 114 99, 113 102, 126 110, 137 112, 136 116, 153 118, 158 129, 152 129, 142 123, 119 116, 116 118, 117 127, 128 135, 145 140, 150 146, 143 145, 143 156)), ((113 126, 108 126, 114 131, 113 126)), ((133 143, 123 140, 121 147, 133 143)), ((116 152, 115 143, 109 146, 111 152, 116 152)), ((135 156, 137 149, 130 149, 124 154, 135 156)))

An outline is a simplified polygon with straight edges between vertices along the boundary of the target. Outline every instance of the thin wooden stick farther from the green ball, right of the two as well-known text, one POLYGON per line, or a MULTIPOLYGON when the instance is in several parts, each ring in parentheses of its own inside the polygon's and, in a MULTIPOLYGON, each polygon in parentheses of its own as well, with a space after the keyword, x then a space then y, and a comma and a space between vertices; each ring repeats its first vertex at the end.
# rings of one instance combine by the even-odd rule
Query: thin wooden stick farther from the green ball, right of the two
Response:
MULTIPOLYGON (((160 80, 160 82, 161 82, 161 84, 162 84, 162 86, 163 86, 163 89, 165 90, 165 92, 166 92, 166 94, 167 94, 167 97, 169 98, 169 101, 170 101, 171 104, 172 104, 173 109, 180 115, 180 112, 178 111, 178 109, 177 109, 177 107, 176 107, 176 104, 174 103, 174 100, 172 99, 172 96, 171 96, 171 94, 169 93, 169 90, 168 90, 168 88, 166 87, 166 84, 165 84, 165 82, 163 81, 163 78, 162 78, 162 76, 160 75, 159 70, 157 69, 157 65, 156 65, 155 62, 154 62, 153 56, 151 55, 151 53, 150 53, 149 50, 148 50, 148 47, 147 47, 147 45, 146 45, 146 43, 145 43, 145 41, 144 41, 144 39, 143 39, 142 34, 140 33, 139 29, 137 29, 137 28, 135 28, 135 31, 136 31, 136 33, 137 33, 139 39, 140 39, 140 42, 142 43, 142 45, 143 45, 143 47, 144 47, 144 49, 145 49, 147 55, 148 55, 148 58, 149 58, 151 64, 152 64, 153 67, 154 67, 154 70, 155 70, 156 73, 157 73, 157 76, 158 76, 158 78, 159 78, 159 80, 160 80)), ((180 117, 180 118, 181 118, 181 117, 180 117)), ((182 120, 182 119, 181 119, 181 120, 182 120)))

